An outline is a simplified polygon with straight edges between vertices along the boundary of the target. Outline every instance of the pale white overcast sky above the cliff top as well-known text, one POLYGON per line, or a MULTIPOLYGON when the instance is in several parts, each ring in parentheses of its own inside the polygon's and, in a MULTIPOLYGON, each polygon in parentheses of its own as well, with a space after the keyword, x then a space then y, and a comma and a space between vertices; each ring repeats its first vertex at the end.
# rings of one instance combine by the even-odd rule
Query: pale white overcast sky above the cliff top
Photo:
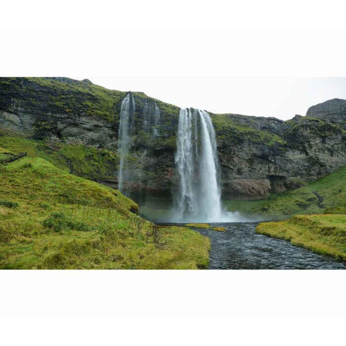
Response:
POLYGON ((346 99, 346 78, 89 79, 110 89, 143 91, 178 107, 284 120, 305 115, 314 104, 346 99))

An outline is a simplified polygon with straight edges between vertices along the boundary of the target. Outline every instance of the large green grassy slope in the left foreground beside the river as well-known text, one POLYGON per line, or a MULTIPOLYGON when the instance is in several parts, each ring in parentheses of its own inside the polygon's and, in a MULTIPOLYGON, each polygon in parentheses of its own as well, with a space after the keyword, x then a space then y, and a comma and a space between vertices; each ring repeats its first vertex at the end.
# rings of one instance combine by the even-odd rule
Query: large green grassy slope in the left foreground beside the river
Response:
MULTIPOLYGON (((209 240, 181 227, 160 228, 154 244, 150 222, 136 232, 137 205, 120 192, 66 173, 41 158, 0 167, 0 268, 200 268, 209 240), (1 203, 0 203, 1 204, 1 203), (55 214, 53 214, 55 213, 55 214), (59 214, 56 214, 59 213, 59 214), (61 214, 62 213, 62 214, 61 214), (58 224, 54 231, 44 220, 58 224)), ((47 221, 46 221, 47 222, 47 221)))

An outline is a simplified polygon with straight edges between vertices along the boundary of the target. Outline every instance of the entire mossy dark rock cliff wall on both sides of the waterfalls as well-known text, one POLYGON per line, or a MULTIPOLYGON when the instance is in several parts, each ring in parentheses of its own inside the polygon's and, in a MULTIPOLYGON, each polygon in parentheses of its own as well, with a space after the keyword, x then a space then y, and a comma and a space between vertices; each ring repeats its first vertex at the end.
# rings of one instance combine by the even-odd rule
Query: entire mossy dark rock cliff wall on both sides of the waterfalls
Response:
MULTIPOLYGON (((177 186, 174 152, 179 109, 143 93, 132 94, 135 114, 125 187, 139 202, 148 194, 171 197, 177 186), (146 109, 154 101, 160 109, 155 136, 153 124, 149 130, 143 125, 146 109)), ((108 150, 116 156, 125 96, 126 92, 98 87, 87 80, 1 78, 0 127, 50 143, 52 150, 53 143, 65 143, 102 149, 102 153, 108 150)), ((270 192, 300 187, 306 180, 345 165, 345 104, 345 100, 327 101, 310 107, 306 117, 285 122, 211 114, 223 197, 263 198, 270 192)), ((117 167, 111 174, 107 183, 117 186, 117 167)))

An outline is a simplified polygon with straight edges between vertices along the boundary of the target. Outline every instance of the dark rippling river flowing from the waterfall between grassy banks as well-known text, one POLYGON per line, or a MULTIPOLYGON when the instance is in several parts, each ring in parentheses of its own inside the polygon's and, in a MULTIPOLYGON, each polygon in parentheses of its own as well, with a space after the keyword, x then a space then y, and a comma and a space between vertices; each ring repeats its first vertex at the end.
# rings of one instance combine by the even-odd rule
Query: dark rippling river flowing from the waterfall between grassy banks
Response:
POLYGON ((210 269, 346 269, 346 262, 257 234, 258 222, 217 223, 226 232, 194 228, 211 240, 210 269))

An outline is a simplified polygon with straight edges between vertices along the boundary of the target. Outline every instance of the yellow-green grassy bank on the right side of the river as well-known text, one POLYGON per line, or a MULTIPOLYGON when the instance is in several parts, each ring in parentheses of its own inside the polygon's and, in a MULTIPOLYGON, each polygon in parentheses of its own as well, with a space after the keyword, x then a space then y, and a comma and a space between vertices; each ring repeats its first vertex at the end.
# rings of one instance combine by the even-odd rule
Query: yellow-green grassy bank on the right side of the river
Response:
POLYGON ((260 223, 256 231, 346 260, 346 215, 293 216, 285 221, 260 223))

